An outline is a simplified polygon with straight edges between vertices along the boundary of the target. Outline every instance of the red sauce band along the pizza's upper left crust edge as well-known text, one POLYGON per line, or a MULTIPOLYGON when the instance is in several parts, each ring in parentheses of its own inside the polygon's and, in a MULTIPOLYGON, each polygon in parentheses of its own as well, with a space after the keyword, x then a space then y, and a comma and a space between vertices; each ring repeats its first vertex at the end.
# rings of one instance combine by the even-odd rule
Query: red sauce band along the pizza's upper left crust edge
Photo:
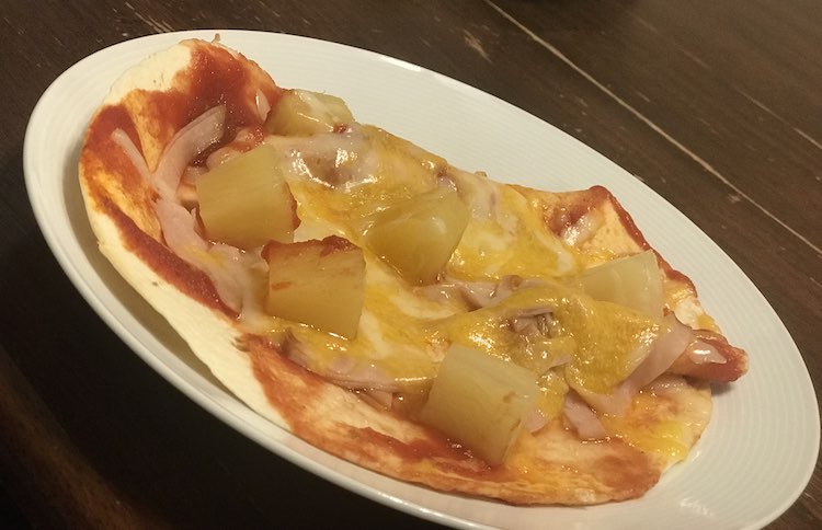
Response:
POLYGON ((87 132, 80 165, 93 207, 115 222, 130 252, 181 292, 233 315, 220 302, 214 285, 202 270, 160 243, 159 222, 153 217, 157 193, 112 139, 112 132, 122 129, 144 152, 138 126, 167 145, 178 130, 216 105, 226 105, 227 110, 224 142, 242 127, 259 129, 250 135, 251 141, 262 137, 258 90, 272 106, 279 100, 282 90, 262 70, 251 68, 254 64, 242 56, 235 57, 216 46, 190 45, 190 65, 175 74, 170 90, 133 91, 119 104, 105 106, 96 114, 87 132), (138 113, 139 124, 132 113, 138 113), (140 219, 135 221, 129 217, 124 211, 126 206, 129 214, 140 219))

